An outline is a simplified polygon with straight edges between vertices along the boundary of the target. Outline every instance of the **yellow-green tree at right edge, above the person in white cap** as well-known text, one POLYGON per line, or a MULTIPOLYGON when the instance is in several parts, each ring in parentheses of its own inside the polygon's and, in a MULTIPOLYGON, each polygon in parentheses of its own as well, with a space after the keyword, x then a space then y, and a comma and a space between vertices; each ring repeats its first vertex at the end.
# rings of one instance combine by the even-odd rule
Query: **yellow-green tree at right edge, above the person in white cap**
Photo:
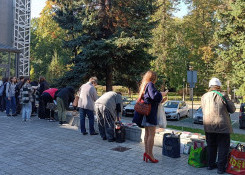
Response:
POLYGON ((239 88, 239 95, 245 96, 245 3, 243 0, 225 2, 217 13, 216 72, 239 88))

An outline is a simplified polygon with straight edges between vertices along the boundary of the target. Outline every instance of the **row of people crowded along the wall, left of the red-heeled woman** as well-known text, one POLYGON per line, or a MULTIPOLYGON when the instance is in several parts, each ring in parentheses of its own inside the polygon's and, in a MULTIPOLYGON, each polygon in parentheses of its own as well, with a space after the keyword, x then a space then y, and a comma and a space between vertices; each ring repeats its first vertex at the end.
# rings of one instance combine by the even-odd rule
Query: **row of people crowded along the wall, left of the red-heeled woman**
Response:
POLYGON ((115 121, 120 120, 122 116, 122 96, 121 93, 110 91, 99 98, 95 89, 97 84, 97 78, 91 77, 75 94, 74 88, 69 86, 61 89, 50 88, 45 77, 40 77, 36 84, 30 82, 30 78, 20 77, 18 81, 16 77, 11 77, 10 81, 5 78, 3 82, 0 81, 0 109, 1 111, 6 109, 7 116, 17 116, 22 112, 22 120, 29 121, 34 112, 33 108, 37 107, 39 119, 55 121, 56 108, 48 107, 48 104, 54 104, 58 110, 59 124, 63 125, 67 123, 66 111, 71 103, 74 104, 76 96, 75 107, 79 108, 81 133, 88 134, 85 127, 85 118, 88 117, 89 134, 100 134, 103 140, 112 142, 115 141, 115 121), (1 87, 3 87, 2 94, 1 87), (94 128, 96 116, 99 133, 94 128))

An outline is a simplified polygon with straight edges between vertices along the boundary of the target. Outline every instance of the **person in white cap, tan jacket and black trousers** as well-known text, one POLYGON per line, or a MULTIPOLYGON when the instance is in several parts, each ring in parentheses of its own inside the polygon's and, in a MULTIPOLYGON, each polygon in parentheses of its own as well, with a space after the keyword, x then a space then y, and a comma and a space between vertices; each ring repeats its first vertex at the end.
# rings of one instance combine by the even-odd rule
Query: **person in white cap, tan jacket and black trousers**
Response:
POLYGON ((229 97, 221 92, 221 82, 218 78, 209 81, 209 92, 201 98, 203 125, 208 147, 208 170, 218 168, 217 173, 225 172, 230 147, 232 125, 229 113, 236 108, 229 97), (216 156, 218 151, 218 164, 216 156))

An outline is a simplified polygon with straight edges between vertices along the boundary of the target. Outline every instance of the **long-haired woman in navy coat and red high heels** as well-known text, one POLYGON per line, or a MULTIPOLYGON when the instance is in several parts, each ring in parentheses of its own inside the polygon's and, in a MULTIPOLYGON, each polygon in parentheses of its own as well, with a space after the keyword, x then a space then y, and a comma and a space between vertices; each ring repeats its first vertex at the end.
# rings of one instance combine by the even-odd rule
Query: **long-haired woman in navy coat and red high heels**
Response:
POLYGON ((140 89, 139 89, 139 99, 138 102, 149 104, 150 112, 148 115, 143 115, 141 111, 135 110, 133 122, 139 127, 145 128, 145 153, 143 155, 143 160, 148 162, 150 160, 152 163, 157 163, 158 160, 153 156, 153 145, 157 122, 157 110, 159 103, 163 100, 163 96, 166 95, 165 92, 159 92, 155 88, 155 83, 157 81, 157 75, 155 72, 149 70, 147 71, 142 79, 140 89))

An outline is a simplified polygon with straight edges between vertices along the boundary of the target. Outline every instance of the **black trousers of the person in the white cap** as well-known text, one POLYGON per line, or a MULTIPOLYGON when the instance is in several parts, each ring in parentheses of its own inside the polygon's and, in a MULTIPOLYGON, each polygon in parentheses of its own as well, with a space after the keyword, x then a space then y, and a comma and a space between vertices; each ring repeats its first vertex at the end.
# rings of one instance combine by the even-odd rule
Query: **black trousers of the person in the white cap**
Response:
POLYGON ((205 135, 208 146, 208 166, 215 166, 218 152, 218 170, 225 171, 230 148, 230 134, 206 132, 205 135))

